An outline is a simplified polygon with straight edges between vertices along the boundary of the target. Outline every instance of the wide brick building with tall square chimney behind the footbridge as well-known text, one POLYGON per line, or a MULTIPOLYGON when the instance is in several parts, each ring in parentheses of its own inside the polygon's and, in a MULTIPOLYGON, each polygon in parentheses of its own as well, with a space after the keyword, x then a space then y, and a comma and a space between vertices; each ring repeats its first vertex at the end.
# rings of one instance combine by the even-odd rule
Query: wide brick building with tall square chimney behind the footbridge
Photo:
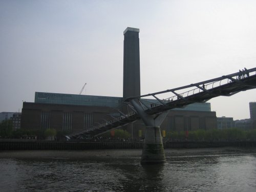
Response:
MULTIPOLYGON (((81 132, 108 118, 125 98, 139 96, 139 29, 128 27, 123 34, 123 97, 35 92, 34 102, 23 103, 22 129, 81 132)), ((214 129, 217 128, 216 112, 211 112, 210 103, 193 103, 170 110, 160 127, 166 132, 214 129)), ((139 130, 143 132, 145 125, 138 120, 121 129, 138 138, 139 130)))

